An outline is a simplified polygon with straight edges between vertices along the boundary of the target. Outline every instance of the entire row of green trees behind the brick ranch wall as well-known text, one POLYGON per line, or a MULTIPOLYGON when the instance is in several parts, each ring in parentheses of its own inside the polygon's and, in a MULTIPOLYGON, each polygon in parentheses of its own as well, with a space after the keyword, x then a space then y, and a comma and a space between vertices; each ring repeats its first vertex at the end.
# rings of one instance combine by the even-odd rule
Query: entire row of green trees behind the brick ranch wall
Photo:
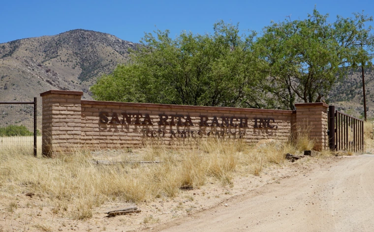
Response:
POLYGON ((260 36, 223 21, 212 34, 175 39, 156 30, 91 91, 106 101, 293 109, 325 98, 343 67, 370 62, 368 21, 355 14, 330 23, 314 9, 305 20, 272 22, 260 36))

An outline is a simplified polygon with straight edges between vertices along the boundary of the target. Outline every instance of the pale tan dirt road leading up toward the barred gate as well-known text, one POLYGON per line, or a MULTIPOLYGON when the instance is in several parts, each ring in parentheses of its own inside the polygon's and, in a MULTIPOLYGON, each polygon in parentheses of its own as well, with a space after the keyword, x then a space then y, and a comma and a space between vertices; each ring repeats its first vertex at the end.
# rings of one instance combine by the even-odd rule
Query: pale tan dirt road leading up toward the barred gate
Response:
POLYGON ((343 157, 225 203, 152 231, 373 232, 374 155, 343 157))

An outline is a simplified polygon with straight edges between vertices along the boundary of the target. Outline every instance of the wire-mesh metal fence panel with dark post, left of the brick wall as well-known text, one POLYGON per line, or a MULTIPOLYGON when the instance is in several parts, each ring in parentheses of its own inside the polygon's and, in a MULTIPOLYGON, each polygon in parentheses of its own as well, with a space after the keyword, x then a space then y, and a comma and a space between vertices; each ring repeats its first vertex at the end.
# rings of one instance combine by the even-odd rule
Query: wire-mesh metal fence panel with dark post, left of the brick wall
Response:
POLYGON ((33 102, 0 102, 0 149, 31 144, 36 157, 36 106, 36 97, 33 102))

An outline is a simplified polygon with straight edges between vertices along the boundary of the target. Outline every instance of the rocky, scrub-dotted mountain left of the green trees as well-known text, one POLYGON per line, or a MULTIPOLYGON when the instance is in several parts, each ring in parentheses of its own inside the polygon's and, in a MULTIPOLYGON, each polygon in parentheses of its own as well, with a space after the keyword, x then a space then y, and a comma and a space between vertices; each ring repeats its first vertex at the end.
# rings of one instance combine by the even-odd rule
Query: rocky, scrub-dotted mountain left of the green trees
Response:
POLYGON ((128 60, 136 44, 114 35, 75 29, 0 44, 0 101, 31 101, 49 89, 89 88, 128 60))

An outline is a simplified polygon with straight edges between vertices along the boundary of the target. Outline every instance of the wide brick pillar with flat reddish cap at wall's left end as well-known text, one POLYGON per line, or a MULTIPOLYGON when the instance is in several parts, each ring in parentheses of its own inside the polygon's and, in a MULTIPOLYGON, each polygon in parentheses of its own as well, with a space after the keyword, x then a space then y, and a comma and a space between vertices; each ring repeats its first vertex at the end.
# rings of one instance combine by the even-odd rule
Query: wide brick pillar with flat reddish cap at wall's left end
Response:
POLYGON ((80 145, 81 91, 49 90, 42 97, 42 154, 71 151, 80 145))

